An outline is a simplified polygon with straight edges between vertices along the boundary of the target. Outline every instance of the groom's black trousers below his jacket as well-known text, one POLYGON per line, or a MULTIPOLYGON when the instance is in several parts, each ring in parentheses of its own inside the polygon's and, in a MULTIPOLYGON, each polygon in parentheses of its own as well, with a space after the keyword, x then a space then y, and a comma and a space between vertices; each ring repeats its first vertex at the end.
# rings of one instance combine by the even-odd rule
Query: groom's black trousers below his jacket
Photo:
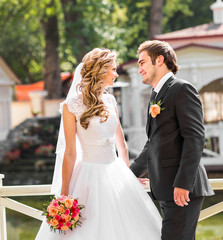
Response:
POLYGON ((163 215, 162 240, 194 240, 204 197, 190 199, 188 206, 174 201, 160 201, 163 215))

